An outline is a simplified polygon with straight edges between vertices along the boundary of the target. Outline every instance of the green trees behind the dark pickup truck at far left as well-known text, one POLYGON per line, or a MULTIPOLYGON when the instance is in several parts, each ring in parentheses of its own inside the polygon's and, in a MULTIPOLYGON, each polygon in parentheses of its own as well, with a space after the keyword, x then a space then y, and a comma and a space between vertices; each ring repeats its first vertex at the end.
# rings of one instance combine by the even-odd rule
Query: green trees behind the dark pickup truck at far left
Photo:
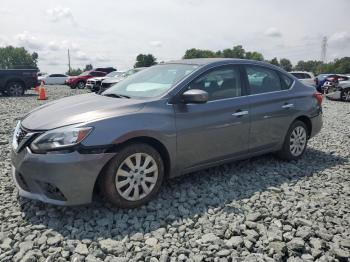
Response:
POLYGON ((0 68, 37 69, 38 54, 30 54, 24 47, 0 47, 0 68))

